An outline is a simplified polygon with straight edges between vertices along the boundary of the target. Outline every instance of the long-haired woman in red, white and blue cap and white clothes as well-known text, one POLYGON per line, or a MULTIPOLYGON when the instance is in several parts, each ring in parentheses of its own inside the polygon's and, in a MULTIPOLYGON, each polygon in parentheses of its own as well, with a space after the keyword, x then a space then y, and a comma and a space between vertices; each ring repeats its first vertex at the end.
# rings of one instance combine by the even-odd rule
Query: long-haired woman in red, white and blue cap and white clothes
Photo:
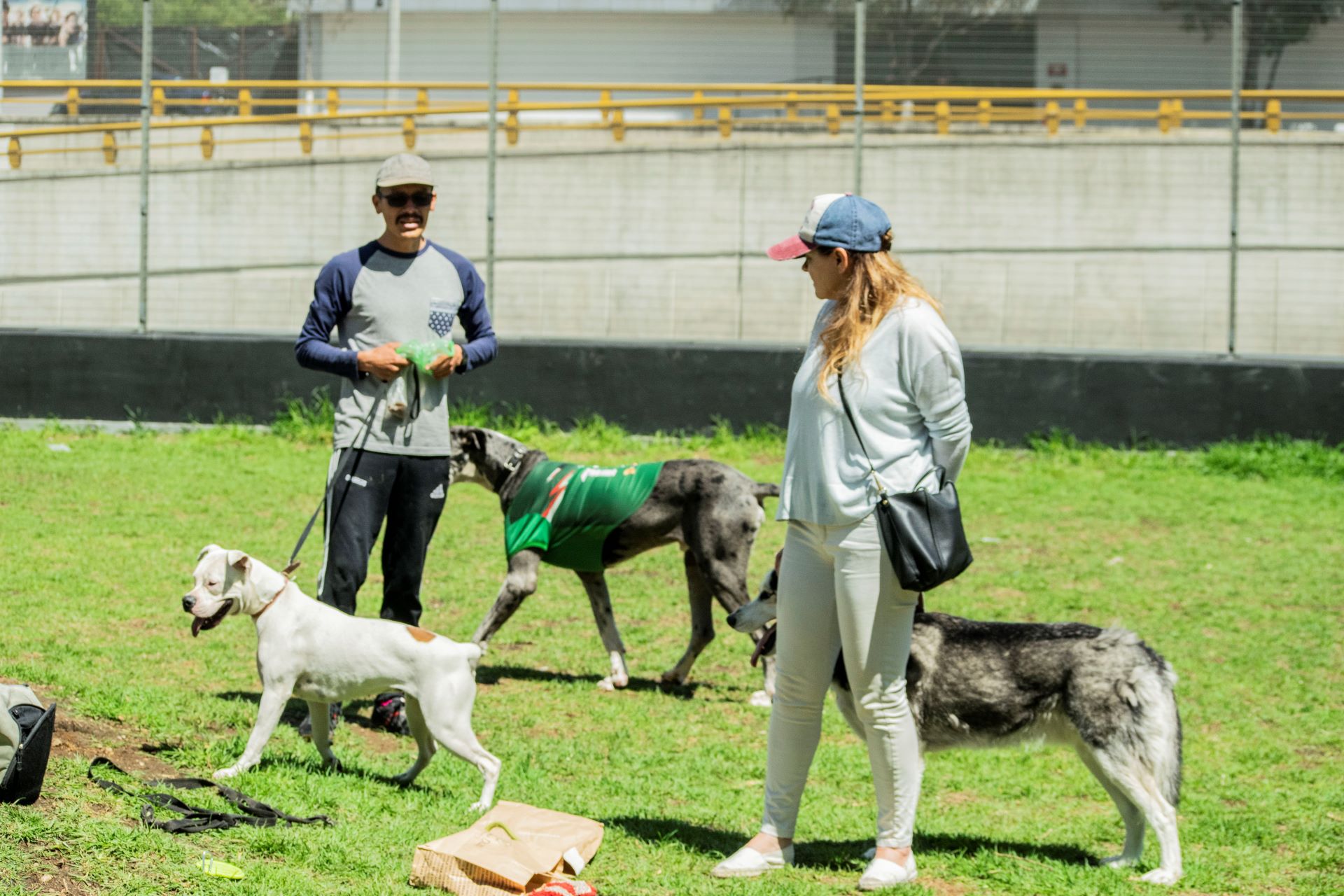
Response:
POLYGON ((961 351, 938 302, 888 253, 891 224, 848 193, 812 200, 797 236, 770 258, 802 258, 823 300, 793 380, 777 519, 778 680, 761 833, 714 868, 753 877, 793 862, 793 832, 821 708, 843 650, 867 732, 878 798, 876 850, 859 889, 915 877, 910 852, 923 760, 906 703, 906 661, 919 595, 903 591, 872 514, 876 490, 845 419, 837 377, 874 469, 907 492, 934 466, 948 481, 970 445, 961 351))

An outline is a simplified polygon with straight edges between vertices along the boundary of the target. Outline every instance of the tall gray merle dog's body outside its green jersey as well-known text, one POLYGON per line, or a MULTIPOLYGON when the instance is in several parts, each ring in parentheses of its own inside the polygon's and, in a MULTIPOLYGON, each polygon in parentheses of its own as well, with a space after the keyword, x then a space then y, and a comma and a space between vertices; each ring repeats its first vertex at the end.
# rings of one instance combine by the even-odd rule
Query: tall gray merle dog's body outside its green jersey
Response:
MULTIPOLYGON (((452 441, 452 482, 468 481, 488 488, 499 496, 505 514, 527 474, 548 459, 544 451, 528 449, 495 430, 454 426, 452 441)), ((602 543, 603 568, 665 544, 679 544, 683 549, 691 599, 691 642, 677 664, 663 673, 665 684, 684 684, 696 657, 714 639, 714 599, 728 613, 750 599, 747 559, 765 519, 762 501, 778 494, 777 485, 755 482, 718 461, 667 461, 649 497, 602 543)), ((542 553, 535 548, 509 557, 508 574, 495 606, 472 641, 485 647, 523 600, 536 591, 542 562, 542 553)), ((624 688, 630 674, 606 578, 601 571, 578 572, 578 576, 587 591, 602 645, 610 658, 610 676, 599 686, 607 690, 624 688)), ((759 638, 759 633, 753 638, 759 638)), ((767 677, 773 674, 773 665, 770 660, 767 677)))

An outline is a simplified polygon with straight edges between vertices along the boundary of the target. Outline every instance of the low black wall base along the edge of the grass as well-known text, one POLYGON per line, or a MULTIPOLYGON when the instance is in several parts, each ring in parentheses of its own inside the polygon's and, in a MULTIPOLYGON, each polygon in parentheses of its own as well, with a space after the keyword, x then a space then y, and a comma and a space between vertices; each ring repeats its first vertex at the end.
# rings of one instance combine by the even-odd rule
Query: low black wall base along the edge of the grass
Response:
MULTIPOLYGON (((0 330, 0 416, 270 422, 285 399, 331 387, 270 336, 0 330)), ((636 433, 775 423, 801 349, 505 343, 454 379, 454 400, 527 404, 562 423, 599 414, 636 433)), ((966 352, 977 439, 1060 427, 1113 445, 1200 445, 1257 433, 1344 442, 1344 361, 966 352)))

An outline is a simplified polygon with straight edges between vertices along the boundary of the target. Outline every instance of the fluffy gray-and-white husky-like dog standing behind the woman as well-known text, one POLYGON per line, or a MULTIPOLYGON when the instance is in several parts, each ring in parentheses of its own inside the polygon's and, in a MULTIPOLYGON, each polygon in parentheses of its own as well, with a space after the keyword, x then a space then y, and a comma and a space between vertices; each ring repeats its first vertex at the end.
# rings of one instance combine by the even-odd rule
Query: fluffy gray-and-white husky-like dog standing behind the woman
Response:
MULTIPOLYGON (((755 600, 728 615, 738 631, 775 618, 778 574, 755 600)), ((774 649, 774 629, 758 653, 774 649)), ((755 657, 753 657, 753 661, 755 657)), ((922 751, 1004 747, 1044 740, 1073 747, 1106 789, 1125 822, 1125 848, 1103 864, 1136 864, 1144 822, 1153 826, 1161 864, 1142 876, 1175 884, 1181 876, 1176 805, 1180 798, 1181 728, 1172 692, 1176 673, 1125 629, 1077 622, 973 622, 915 613, 906 666, 906 699, 922 751)), ((773 695, 774 681, 766 689, 773 695)), ((863 723, 836 660, 836 705, 860 739, 863 723)))

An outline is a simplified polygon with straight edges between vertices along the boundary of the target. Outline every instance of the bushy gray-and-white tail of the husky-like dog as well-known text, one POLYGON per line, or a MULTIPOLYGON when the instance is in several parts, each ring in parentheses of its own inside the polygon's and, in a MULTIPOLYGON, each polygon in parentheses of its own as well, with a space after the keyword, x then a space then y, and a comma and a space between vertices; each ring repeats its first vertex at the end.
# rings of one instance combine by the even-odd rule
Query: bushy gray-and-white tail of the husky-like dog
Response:
POLYGON ((1176 708, 1176 673, 1156 650, 1125 629, 1102 631, 1094 646, 1098 650, 1121 649, 1133 657, 1129 674, 1116 682, 1116 692, 1128 709, 1124 740, 1152 770, 1163 798, 1179 806, 1181 724, 1176 708))

